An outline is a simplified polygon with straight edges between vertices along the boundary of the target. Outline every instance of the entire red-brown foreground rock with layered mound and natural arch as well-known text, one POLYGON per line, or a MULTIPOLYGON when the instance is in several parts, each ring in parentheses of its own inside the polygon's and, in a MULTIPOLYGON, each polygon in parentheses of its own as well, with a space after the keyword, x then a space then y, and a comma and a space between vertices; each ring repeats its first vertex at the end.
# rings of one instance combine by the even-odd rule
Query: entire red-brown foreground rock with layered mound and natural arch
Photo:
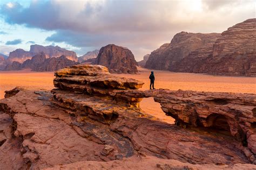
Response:
POLYGON ((53 82, 51 92, 16 88, 0 100, 2 168, 256 168, 256 95, 140 91, 95 65, 58 70, 53 82), (176 124, 144 113, 144 97, 176 124))

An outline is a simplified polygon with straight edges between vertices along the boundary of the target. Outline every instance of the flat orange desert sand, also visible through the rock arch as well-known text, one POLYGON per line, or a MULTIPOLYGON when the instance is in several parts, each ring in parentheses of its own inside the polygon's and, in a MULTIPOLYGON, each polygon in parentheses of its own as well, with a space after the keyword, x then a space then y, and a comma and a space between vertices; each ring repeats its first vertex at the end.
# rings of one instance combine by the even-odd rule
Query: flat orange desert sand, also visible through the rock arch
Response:
MULTIPOLYGON (((139 68, 139 74, 115 74, 143 81, 145 84, 141 90, 147 90, 150 86, 149 75, 151 70, 139 68)), ((213 76, 193 73, 173 73, 163 70, 154 70, 156 77, 155 88, 170 90, 195 90, 195 91, 220 91, 230 93, 256 94, 256 77, 231 77, 213 76)), ((22 71, 0 72, 0 98, 4 98, 4 91, 16 86, 30 89, 51 90, 53 87, 54 72, 31 72, 28 69, 22 71)), ((144 98, 140 108, 158 117, 161 121, 173 123, 173 118, 165 116, 160 109, 160 104, 153 98, 144 98)))

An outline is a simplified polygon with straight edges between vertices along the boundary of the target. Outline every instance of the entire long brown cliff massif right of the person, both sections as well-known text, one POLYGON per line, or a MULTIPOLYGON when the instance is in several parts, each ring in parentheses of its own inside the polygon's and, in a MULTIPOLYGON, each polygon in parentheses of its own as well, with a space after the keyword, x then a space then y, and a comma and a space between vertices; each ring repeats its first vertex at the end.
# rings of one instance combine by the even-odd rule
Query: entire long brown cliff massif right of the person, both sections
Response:
POLYGON ((145 67, 173 72, 256 76, 256 18, 221 34, 181 32, 153 51, 145 67))

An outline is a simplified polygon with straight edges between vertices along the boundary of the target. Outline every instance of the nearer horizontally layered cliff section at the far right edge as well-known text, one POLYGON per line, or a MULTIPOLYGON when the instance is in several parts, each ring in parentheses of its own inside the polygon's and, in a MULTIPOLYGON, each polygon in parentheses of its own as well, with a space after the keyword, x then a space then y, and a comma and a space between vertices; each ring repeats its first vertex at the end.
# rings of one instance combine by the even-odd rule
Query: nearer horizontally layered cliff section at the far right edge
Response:
POLYGON ((206 63, 207 73, 256 76, 256 18, 221 33, 206 63))

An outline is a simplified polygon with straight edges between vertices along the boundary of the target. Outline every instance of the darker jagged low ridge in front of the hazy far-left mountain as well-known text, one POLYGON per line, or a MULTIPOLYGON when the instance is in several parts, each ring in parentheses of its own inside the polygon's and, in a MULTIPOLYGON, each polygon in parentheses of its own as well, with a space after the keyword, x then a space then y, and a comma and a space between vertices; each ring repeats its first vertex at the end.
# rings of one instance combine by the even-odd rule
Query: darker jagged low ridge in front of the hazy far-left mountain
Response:
POLYGON ((14 61, 6 65, 4 70, 21 70, 25 68, 30 68, 32 71, 36 72, 53 72, 58 69, 77 65, 78 62, 69 60, 66 56, 62 55, 60 57, 46 58, 44 53, 39 53, 33 56, 31 59, 19 63, 14 61))

